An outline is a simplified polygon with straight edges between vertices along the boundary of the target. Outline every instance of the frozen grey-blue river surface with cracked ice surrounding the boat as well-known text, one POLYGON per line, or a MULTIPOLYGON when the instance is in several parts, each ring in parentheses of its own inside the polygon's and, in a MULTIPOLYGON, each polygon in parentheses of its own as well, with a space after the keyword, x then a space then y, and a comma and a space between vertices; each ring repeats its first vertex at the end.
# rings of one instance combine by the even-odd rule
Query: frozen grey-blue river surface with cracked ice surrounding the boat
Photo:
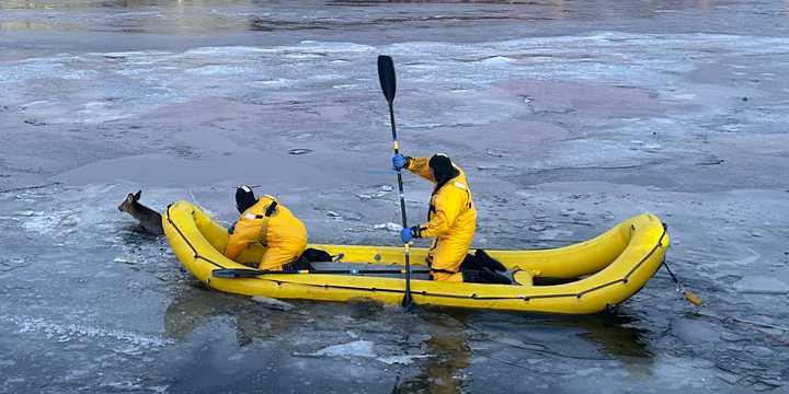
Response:
MULTIPOLYGON (((789 392, 788 19, 784 1, 0 1, 0 393, 789 392), (230 222, 254 184, 312 242, 397 245, 376 228, 399 221, 379 54, 403 151, 466 169, 477 245, 653 212, 705 306, 660 270, 585 317, 282 312, 201 287, 116 209, 142 189, 230 222)), ((404 181, 421 220, 430 185, 404 181)))

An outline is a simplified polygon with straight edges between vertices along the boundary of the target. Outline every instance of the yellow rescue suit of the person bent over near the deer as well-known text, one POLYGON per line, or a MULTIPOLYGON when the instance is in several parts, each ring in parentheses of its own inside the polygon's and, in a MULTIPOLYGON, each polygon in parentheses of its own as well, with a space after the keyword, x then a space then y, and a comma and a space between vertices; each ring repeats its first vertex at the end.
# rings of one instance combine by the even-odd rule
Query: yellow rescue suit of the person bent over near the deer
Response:
POLYGON ((283 264, 296 260, 307 247, 307 228, 274 197, 263 196, 241 213, 225 255, 236 259, 254 242, 266 246, 258 268, 282 270, 283 264))

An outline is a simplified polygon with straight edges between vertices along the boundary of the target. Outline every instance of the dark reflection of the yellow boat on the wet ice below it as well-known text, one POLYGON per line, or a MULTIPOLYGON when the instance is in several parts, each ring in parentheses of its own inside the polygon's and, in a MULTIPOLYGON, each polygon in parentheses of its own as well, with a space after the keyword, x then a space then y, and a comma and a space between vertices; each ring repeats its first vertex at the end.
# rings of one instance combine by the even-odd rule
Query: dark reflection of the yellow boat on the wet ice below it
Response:
POLYGON ((219 322, 226 327, 220 332, 235 333, 228 339, 238 348, 276 344, 297 359, 353 358, 378 366, 397 375, 393 392, 460 392, 471 371, 491 364, 534 370, 527 359, 546 366, 617 362, 641 376, 651 374, 653 364, 649 340, 655 334, 639 328, 638 317, 624 311, 547 316, 419 308, 402 313, 369 300, 288 302, 296 309, 270 310, 195 280, 167 308, 164 332, 178 343, 202 341, 206 334, 201 328, 219 322))

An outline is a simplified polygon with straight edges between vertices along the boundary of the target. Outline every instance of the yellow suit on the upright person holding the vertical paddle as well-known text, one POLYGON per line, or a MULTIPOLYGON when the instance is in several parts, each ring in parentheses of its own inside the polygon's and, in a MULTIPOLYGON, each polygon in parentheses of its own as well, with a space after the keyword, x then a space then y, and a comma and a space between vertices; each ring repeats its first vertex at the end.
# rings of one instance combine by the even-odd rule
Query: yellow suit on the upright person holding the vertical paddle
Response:
MULTIPOLYGON (((428 158, 411 158, 408 169, 436 183, 428 162, 428 158)), ((436 237, 427 255, 434 280, 462 281, 460 264, 468 254, 477 228, 477 209, 466 173, 457 165, 454 166, 458 175, 433 192, 427 222, 419 227, 420 236, 436 237)))

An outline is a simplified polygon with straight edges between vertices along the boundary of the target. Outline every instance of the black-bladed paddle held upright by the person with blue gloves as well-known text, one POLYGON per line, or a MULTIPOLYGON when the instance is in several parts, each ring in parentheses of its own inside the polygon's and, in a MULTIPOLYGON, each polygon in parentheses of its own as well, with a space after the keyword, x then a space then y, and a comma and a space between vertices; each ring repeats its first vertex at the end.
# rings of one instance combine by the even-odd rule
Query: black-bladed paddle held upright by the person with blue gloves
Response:
MULTIPOLYGON (((378 56, 378 80, 384 91, 384 96, 389 103, 389 120, 392 126, 392 148, 395 154, 400 152, 400 142, 397 140, 397 129, 395 128, 395 107, 392 102, 395 101, 395 91, 397 90, 397 80, 395 78, 395 62, 391 57, 386 55, 378 56)), ((402 173, 398 170, 398 189, 400 192, 400 212, 402 213, 403 229, 408 229, 408 220, 405 219, 405 196, 402 189, 402 173)), ((403 244, 405 253, 405 296, 403 297, 402 305, 410 308, 413 304, 411 298, 411 257, 410 257, 410 245, 409 243, 403 244)))

